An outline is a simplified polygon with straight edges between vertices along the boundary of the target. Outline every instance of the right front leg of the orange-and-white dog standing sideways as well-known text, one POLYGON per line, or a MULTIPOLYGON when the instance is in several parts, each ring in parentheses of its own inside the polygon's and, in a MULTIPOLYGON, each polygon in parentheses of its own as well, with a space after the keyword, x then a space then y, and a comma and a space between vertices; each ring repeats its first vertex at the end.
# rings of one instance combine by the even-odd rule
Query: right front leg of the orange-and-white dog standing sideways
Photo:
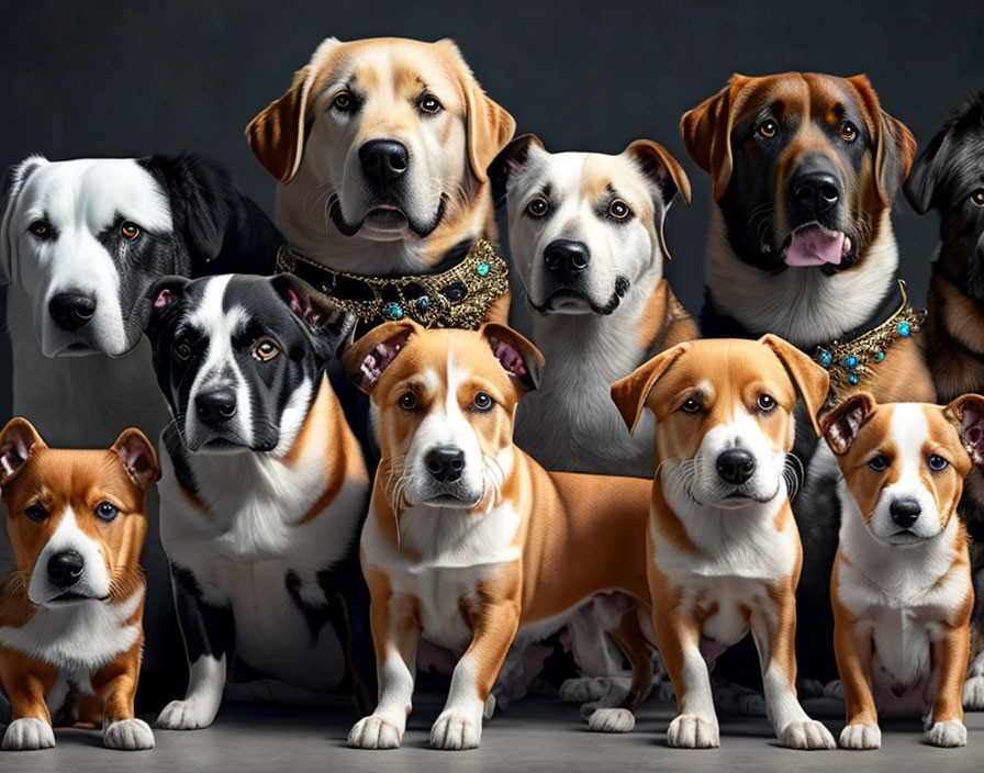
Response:
POLYGON ((469 618, 471 645, 455 666, 447 703, 431 728, 435 749, 478 748, 485 702, 519 628, 519 601, 482 602, 469 618))

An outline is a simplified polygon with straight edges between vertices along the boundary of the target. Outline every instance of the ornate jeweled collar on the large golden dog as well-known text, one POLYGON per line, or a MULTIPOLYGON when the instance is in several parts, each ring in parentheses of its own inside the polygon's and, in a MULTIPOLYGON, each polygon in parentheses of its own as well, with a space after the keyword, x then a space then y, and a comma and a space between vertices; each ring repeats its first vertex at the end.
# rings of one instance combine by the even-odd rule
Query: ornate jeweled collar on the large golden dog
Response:
MULTIPOLYGON (((466 243, 467 244, 467 243, 466 243)), ((508 265, 485 239, 478 239, 465 257, 439 273, 369 277, 323 266, 292 247, 277 254, 277 270, 303 279, 328 295, 361 324, 410 317, 425 327, 477 331, 489 306, 510 289, 508 265)))

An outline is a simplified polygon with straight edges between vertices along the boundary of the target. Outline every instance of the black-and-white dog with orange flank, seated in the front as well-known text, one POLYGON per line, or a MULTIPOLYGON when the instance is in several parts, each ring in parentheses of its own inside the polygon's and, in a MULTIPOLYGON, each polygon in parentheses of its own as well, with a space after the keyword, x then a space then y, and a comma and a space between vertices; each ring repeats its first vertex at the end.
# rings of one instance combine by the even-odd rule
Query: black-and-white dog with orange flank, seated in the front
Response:
POLYGON ((342 686, 370 709, 358 561, 369 475, 325 373, 354 318, 291 275, 165 278, 150 298, 147 335, 174 416, 161 539, 191 666, 158 726, 206 727, 224 690, 311 703, 342 686))

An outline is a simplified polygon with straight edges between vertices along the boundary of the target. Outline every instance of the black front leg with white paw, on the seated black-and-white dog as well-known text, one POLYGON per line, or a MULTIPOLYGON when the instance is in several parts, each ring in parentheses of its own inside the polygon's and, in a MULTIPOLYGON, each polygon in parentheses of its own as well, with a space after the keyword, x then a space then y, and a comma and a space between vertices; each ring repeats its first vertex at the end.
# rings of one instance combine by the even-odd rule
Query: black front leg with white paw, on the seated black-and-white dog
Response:
POLYGON ((235 624, 232 609, 205 603, 194 575, 176 563, 171 563, 171 585, 190 673, 185 698, 164 707, 157 727, 197 730, 212 724, 222 704, 235 624))

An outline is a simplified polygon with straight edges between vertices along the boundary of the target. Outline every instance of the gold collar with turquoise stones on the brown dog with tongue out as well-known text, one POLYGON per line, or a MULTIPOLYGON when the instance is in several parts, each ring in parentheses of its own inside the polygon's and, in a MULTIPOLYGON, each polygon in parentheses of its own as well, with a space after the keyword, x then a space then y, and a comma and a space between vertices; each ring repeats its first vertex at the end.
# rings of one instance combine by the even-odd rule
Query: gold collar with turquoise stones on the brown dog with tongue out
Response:
POLYGON ((870 377, 873 368, 885 359, 885 351, 894 341, 908 338, 923 327, 926 311, 913 309, 905 282, 897 281, 901 300, 892 316, 868 332, 849 333, 843 343, 836 339, 816 348, 814 360, 830 374, 828 405, 846 396, 847 392, 870 377))

